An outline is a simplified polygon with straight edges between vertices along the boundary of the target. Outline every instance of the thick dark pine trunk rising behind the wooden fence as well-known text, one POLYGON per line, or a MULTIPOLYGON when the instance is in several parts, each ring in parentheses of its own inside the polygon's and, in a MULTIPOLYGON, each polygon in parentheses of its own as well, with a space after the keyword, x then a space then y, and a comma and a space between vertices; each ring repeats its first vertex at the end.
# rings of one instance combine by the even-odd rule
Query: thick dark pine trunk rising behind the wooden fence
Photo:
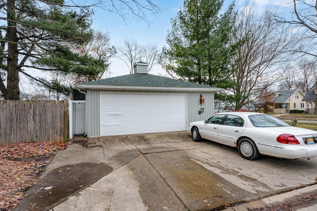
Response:
POLYGON ((15 0, 7 0, 7 86, 6 100, 20 100, 18 70, 18 38, 15 20, 15 0))

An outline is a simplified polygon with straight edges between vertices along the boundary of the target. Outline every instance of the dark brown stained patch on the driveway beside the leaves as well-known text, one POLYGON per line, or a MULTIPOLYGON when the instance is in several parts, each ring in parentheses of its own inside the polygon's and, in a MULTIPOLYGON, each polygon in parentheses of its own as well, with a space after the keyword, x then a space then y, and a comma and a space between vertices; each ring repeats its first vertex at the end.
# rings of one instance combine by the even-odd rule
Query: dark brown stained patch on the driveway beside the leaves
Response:
POLYGON ((105 163, 80 163, 48 169, 14 210, 49 210, 112 170, 105 163))

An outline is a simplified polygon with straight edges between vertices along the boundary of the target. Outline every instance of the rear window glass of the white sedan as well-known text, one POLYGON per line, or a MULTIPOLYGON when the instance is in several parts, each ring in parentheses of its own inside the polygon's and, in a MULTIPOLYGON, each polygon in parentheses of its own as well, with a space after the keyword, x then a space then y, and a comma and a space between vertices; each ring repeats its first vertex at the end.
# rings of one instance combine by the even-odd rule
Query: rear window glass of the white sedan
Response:
POLYGON ((270 115, 255 114, 250 115, 249 119, 255 127, 285 127, 289 124, 279 120, 278 118, 270 115))

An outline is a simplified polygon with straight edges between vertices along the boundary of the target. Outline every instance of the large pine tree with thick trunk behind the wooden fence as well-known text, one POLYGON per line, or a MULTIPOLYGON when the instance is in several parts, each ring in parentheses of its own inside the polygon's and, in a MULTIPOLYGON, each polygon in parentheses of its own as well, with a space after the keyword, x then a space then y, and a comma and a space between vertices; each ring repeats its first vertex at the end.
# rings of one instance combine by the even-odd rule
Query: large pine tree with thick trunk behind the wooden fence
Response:
POLYGON ((5 99, 19 100, 19 73, 32 77, 25 68, 75 71, 69 63, 78 66, 77 55, 62 58, 71 45, 91 39, 89 8, 66 6, 63 0, 6 0, 0 6, 0 91, 5 99), (51 63, 39 65, 49 58, 51 63))

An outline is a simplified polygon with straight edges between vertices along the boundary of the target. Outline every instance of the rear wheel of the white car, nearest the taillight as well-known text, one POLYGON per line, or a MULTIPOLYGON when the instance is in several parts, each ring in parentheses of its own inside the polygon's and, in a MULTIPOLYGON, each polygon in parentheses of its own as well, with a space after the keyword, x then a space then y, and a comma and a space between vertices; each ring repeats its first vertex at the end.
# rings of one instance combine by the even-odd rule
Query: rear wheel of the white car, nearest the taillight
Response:
POLYGON ((242 158, 253 160, 260 156, 255 143, 248 138, 243 138, 238 143, 238 151, 242 158))

